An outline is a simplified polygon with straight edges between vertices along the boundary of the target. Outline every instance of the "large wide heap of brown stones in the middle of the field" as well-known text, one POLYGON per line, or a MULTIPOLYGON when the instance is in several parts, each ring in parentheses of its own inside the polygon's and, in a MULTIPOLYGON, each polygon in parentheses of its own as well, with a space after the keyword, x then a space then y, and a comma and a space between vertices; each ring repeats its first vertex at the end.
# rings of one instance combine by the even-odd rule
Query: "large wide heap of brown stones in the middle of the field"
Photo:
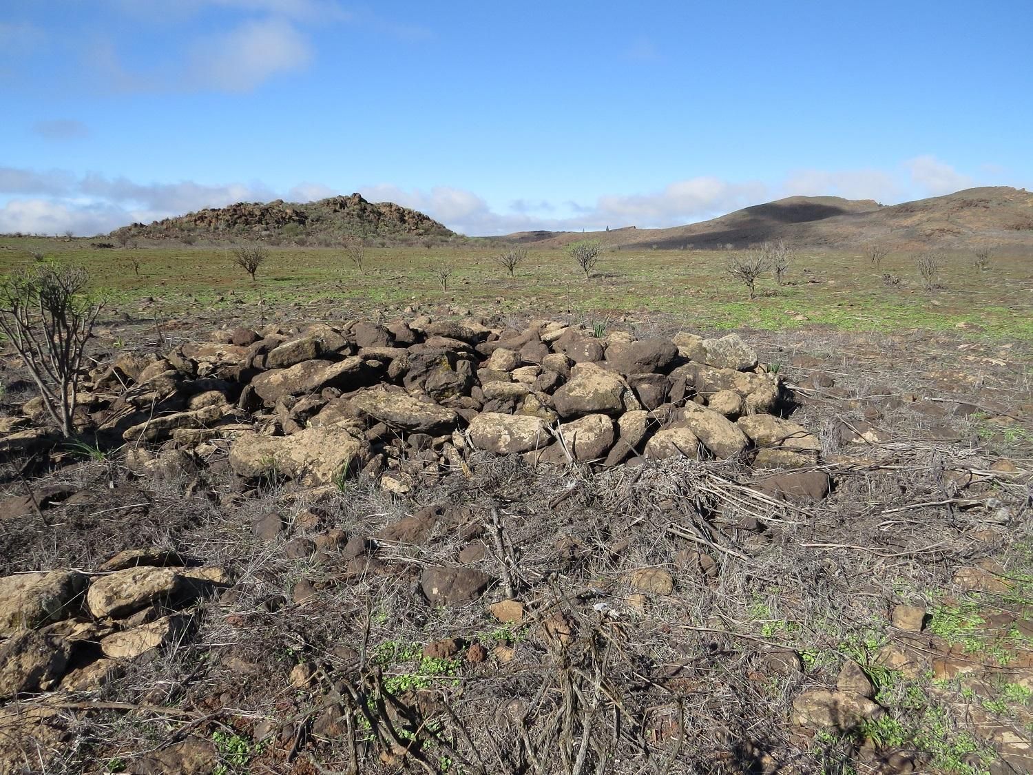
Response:
MULTIPOLYGON (((95 371, 82 422, 120 435, 137 469, 173 452, 222 452, 245 477, 326 484, 365 472, 399 492, 465 470, 474 451, 533 464, 684 456, 758 468, 812 464, 820 451, 779 416, 784 388, 734 334, 636 340, 556 321, 518 331, 422 317, 216 340, 95 371)), ((37 404, 27 413, 41 415, 37 404)))

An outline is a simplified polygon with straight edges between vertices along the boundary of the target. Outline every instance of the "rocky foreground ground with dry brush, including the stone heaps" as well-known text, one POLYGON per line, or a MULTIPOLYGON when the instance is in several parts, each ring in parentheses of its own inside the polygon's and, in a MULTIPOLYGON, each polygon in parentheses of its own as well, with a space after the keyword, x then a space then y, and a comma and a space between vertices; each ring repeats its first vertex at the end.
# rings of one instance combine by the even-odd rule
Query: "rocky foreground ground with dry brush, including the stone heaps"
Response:
POLYGON ((0 772, 1033 770, 1027 353, 453 312, 4 360, 0 772))

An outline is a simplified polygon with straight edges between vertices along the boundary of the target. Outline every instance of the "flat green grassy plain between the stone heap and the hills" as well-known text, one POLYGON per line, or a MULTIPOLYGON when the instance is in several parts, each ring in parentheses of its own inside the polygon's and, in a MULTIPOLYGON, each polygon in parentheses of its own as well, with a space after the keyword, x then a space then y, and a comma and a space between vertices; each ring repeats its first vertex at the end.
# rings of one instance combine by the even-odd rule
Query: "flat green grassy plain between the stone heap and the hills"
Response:
POLYGON ((372 312, 393 305, 437 304, 510 313, 569 313, 605 319, 663 312, 686 327, 787 330, 828 326, 842 331, 959 330, 990 340, 1033 340, 1033 261, 995 255, 977 271, 972 256, 946 254, 942 287, 927 290, 912 253, 890 253, 876 267, 857 251, 801 251, 787 284, 770 276, 759 298, 725 268, 728 253, 696 250, 619 250, 600 257, 586 279, 561 250, 531 249, 515 277, 496 261, 500 247, 473 241, 442 249, 370 248, 365 272, 334 248, 270 248, 257 281, 233 266, 221 246, 143 244, 98 249, 91 240, 0 238, 0 273, 33 254, 77 261, 115 309, 152 297, 175 314, 184 303, 220 305, 264 300, 272 308, 313 300, 341 301, 372 312), (133 264, 138 261, 138 276, 133 264), (438 268, 452 268, 447 289, 438 268), (899 278, 888 284, 884 275, 899 278))

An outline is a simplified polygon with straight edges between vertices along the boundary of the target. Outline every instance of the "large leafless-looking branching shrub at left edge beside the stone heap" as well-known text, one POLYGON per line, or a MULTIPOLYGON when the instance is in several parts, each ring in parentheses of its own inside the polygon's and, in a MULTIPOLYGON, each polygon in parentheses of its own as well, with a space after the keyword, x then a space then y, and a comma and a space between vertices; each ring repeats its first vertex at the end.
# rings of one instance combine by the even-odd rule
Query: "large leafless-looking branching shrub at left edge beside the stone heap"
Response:
POLYGON ((57 261, 9 275, 0 286, 0 331, 32 375, 46 411, 71 436, 80 366, 100 304, 85 269, 57 261))

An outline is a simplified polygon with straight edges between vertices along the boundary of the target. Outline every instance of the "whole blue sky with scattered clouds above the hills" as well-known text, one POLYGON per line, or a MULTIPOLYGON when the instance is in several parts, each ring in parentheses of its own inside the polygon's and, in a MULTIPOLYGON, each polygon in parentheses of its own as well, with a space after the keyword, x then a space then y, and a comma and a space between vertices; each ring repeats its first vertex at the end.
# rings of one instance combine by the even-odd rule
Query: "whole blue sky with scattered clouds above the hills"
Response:
POLYGON ((1029 0, 0 0, 0 231, 352 191, 487 235, 1026 187, 1031 31, 1029 0))

